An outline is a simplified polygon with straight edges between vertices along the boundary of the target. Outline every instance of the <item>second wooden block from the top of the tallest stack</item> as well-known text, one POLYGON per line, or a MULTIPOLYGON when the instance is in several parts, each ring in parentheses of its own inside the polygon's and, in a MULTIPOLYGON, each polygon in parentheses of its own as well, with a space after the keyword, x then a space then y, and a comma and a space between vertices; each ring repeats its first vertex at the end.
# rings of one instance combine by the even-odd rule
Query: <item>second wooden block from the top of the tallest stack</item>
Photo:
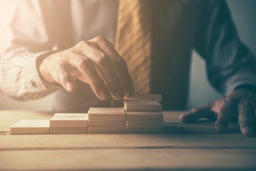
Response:
POLYGON ((126 112, 161 112, 162 105, 155 101, 124 101, 126 112))

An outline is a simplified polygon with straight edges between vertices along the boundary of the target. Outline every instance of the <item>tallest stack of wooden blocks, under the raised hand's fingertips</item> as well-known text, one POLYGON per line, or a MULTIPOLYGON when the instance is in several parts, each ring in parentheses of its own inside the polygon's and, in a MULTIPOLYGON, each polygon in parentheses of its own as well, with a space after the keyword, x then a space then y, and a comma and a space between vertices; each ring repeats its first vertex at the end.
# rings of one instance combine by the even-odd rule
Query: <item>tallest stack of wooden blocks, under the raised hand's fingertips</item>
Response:
POLYGON ((126 133, 162 133, 161 99, 161 95, 155 94, 137 94, 125 98, 126 133))

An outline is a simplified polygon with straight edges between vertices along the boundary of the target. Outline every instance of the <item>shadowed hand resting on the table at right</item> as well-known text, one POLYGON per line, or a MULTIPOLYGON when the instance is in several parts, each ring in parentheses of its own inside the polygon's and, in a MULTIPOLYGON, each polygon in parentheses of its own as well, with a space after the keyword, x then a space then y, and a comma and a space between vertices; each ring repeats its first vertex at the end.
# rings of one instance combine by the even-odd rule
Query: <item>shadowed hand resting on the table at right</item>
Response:
POLYGON ((215 131, 225 133, 232 118, 238 118, 241 133, 245 136, 254 136, 253 120, 256 107, 256 95, 251 91, 239 89, 229 96, 213 103, 192 109, 187 114, 182 114, 180 120, 193 122, 201 118, 216 120, 215 131))

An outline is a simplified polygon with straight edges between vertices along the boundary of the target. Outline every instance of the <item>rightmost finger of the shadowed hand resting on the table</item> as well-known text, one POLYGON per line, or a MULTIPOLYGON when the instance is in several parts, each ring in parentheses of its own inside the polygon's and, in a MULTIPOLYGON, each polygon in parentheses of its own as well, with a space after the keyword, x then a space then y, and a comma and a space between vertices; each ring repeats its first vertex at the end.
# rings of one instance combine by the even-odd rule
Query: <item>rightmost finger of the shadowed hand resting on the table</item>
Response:
POLYGON ((238 123, 240 126, 241 133, 245 136, 253 136, 253 115, 254 109, 248 100, 242 100, 239 102, 239 115, 238 123))

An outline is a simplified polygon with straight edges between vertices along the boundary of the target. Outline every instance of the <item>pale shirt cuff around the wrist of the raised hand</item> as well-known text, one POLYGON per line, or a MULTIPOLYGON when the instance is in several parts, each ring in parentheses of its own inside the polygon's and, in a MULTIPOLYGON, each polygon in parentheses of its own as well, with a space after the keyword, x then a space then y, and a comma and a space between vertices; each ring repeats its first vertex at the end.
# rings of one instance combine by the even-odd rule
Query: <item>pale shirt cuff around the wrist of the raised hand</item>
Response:
POLYGON ((39 76, 38 69, 36 67, 36 60, 41 55, 51 54, 51 51, 33 53, 32 56, 26 61, 25 64, 25 78, 26 87, 30 93, 47 92, 56 88, 58 86, 52 86, 46 84, 39 76))

